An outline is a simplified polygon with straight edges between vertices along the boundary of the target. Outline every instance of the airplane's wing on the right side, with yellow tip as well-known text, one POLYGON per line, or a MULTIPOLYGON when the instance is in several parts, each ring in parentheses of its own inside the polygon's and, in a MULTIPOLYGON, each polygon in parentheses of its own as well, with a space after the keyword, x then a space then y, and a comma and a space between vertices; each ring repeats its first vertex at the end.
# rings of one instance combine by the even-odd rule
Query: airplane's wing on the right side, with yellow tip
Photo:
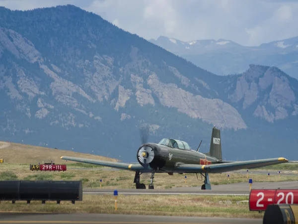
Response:
POLYGON ((210 164, 210 165, 198 165, 198 164, 177 164, 174 168, 175 171, 185 173, 224 173, 233 170, 252 169, 262 166, 275 165, 280 163, 286 163, 289 160, 280 157, 273 159, 259 159, 248 161, 234 161, 228 163, 210 164))

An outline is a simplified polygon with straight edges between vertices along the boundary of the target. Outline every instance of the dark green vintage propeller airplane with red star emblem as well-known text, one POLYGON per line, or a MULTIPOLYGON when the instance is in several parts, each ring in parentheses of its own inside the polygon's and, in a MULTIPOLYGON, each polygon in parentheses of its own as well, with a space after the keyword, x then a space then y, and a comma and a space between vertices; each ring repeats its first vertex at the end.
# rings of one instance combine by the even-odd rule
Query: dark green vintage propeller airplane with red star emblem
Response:
POLYGON ((158 144, 144 142, 146 141, 143 140, 143 144, 137 151, 139 163, 129 164, 69 156, 62 156, 61 159, 134 171, 136 172, 134 183, 136 183, 137 189, 146 189, 145 184, 140 183, 142 173, 151 173, 149 189, 154 189, 153 178, 155 173, 168 173, 169 175, 173 175, 173 173, 199 173, 205 178, 202 190, 211 190, 209 173, 223 173, 288 162, 283 157, 249 161, 223 161, 221 132, 216 127, 213 127, 212 130, 208 153, 198 152, 200 146, 197 150, 192 150, 186 142, 175 139, 163 138, 158 144))

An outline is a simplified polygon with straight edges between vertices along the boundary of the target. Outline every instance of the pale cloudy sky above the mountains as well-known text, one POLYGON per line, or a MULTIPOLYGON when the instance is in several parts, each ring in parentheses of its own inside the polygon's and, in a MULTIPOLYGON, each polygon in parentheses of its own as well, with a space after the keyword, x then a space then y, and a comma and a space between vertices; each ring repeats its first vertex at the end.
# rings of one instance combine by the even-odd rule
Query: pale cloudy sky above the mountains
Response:
POLYGON ((245 46, 298 36, 298 0, 0 0, 10 9, 73 4, 146 39, 229 39, 245 46))

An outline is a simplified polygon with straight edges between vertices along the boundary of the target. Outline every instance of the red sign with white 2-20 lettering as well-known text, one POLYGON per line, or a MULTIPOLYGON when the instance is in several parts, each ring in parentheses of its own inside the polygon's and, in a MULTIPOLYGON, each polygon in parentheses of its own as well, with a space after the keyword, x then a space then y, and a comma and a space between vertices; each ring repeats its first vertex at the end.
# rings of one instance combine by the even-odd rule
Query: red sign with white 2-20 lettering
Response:
POLYGON ((265 211, 268 205, 298 204, 298 189, 253 189, 249 194, 249 211, 265 211))

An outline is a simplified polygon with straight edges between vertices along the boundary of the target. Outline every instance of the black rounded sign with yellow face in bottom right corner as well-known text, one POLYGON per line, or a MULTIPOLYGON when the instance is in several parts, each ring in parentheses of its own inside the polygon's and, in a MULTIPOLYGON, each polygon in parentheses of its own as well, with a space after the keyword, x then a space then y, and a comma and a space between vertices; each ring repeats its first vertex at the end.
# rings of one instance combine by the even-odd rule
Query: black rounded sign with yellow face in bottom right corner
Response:
POLYGON ((298 223, 298 205, 269 205, 263 217, 263 224, 298 223))

